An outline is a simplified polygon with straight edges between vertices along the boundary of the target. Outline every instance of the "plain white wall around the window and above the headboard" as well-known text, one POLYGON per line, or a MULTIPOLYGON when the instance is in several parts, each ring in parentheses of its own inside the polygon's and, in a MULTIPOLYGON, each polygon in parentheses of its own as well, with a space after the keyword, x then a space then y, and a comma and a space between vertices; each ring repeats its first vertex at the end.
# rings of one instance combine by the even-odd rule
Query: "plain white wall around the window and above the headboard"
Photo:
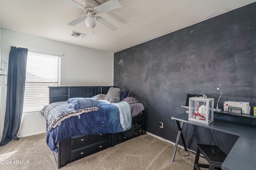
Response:
MULTIPOLYGON (((44 39, 3 28, 0 31, 0 40, 1 59, 7 63, 11 46, 63 54, 60 68, 61 86, 113 86, 113 53, 44 39)), ((7 87, 2 86, 0 88, 0 139, 2 139, 7 87)), ((42 115, 30 113, 22 116, 18 136, 29 136, 43 132, 46 132, 46 121, 42 115)))

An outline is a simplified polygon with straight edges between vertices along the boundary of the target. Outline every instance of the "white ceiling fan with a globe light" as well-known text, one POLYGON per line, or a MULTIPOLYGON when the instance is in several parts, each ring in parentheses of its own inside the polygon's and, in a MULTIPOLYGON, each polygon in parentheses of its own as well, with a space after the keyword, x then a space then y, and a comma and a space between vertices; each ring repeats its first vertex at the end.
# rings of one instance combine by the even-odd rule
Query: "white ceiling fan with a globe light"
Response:
POLYGON ((110 0, 101 5, 99 5, 99 3, 95 0, 83 0, 83 6, 75 2, 74 0, 65 0, 65 1, 86 12, 85 16, 80 16, 79 18, 76 18, 75 20, 68 23, 68 25, 75 26, 78 23, 85 20, 87 27, 94 28, 97 20, 103 25, 105 25, 106 27, 108 27, 109 29, 111 29, 112 31, 115 31, 117 29, 117 27, 115 27, 108 21, 104 20, 100 16, 95 16, 95 15, 98 13, 100 14, 103 12, 114 10, 116 8, 120 8, 122 5, 118 0, 110 0))

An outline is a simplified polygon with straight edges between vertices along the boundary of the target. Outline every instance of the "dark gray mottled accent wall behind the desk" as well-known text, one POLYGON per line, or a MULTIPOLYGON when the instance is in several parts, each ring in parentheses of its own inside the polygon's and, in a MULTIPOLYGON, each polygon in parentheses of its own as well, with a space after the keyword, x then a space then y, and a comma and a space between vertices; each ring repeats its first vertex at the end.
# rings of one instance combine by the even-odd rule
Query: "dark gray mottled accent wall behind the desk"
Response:
MULTIPOLYGON (((224 101, 256 106, 256 3, 114 54, 114 86, 142 102, 147 131, 169 141, 178 133, 171 117, 186 111, 186 94, 206 94, 216 107, 219 84, 219 108, 224 101)), ((183 133, 192 150, 206 143, 228 153, 237 139, 193 125, 183 133)))

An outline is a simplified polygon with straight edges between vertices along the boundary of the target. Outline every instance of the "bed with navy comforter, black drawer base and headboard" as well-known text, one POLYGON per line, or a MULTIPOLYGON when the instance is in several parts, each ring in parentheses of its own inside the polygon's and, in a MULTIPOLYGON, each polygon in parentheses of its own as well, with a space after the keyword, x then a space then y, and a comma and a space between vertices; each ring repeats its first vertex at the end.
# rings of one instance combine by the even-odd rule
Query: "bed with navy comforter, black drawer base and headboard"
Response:
MULTIPOLYGON (((146 134, 144 106, 135 98, 129 97, 127 92, 121 92, 120 97, 110 98, 108 94, 111 94, 110 91, 113 89, 117 88, 111 86, 49 87, 50 103, 41 112, 46 112, 46 107, 63 110, 62 106, 68 106, 67 101, 73 99, 86 98, 86 100, 98 102, 94 104, 95 106, 76 108, 76 113, 71 111, 74 116, 70 116, 72 114, 65 110, 64 113, 68 114, 65 116, 67 118, 60 118, 63 119, 61 121, 52 121, 48 115, 45 115, 48 121, 46 142, 54 153, 58 168, 146 134), (137 104, 141 105, 136 106, 137 104), (55 107, 56 105, 58 107, 55 107)), ((67 109, 73 110, 72 108, 73 106, 67 109)), ((61 114, 60 117, 63 115, 61 114)))

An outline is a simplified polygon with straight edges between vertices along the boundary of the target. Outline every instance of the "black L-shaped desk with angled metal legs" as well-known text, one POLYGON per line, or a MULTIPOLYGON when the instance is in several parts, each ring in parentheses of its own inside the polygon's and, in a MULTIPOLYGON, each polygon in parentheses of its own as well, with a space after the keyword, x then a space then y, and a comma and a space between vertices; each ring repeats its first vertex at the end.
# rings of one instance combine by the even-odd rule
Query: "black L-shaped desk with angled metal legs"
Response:
POLYGON ((232 121, 225 121, 220 119, 214 119, 214 121, 209 125, 204 125, 202 123, 188 121, 188 114, 186 113, 175 115, 172 117, 172 120, 176 120, 179 132, 177 135, 174 150, 172 152, 171 162, 174 161, 180 137, 182 138, 184 149, 187 150, 182 135, 182 127, 184 123, 190 123, 192 125, 197 125, 208 129, 213 129, 216 131, 239 136, 235 145, 232 147, 228 156, 224 160, 222 164, 222 170, 256 169, 256 126, 235 123, 232 121))

